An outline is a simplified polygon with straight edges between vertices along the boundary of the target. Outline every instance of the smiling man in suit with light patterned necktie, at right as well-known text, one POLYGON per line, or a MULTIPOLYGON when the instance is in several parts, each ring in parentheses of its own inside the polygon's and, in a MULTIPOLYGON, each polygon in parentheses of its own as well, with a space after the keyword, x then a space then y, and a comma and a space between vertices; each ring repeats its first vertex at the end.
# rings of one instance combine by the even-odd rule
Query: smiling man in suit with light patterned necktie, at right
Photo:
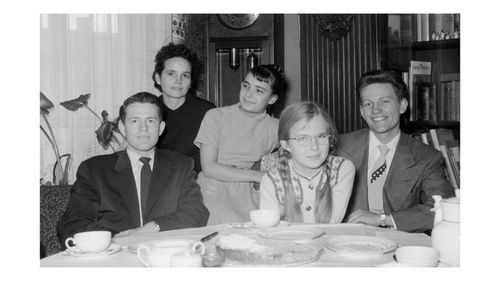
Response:
POLYGON ((441 153, 399 128, 408 107, 405 83, 397 72, 374 70, 361 76, 357 91, 369 129, 342 135, 338 143, 339 155, 356 166, 347 222, 431 230, 432 195, 447 198, 454 190, 441 153))

